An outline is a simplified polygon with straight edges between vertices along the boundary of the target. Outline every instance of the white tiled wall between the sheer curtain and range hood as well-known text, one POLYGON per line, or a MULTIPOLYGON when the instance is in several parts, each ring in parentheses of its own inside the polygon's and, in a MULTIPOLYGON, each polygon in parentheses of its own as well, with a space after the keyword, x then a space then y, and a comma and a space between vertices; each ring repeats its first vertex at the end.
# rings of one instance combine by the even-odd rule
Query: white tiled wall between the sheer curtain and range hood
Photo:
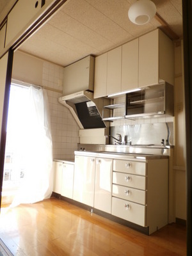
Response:
MULTIPOLYGON (((44 61, 43 85, 62 91, 63 68, 44 61)), ((68 108, 58 102, 62 93, 47 90, 51 115, 53 159, 74 159, 79 143, 79 126, 68 108)))

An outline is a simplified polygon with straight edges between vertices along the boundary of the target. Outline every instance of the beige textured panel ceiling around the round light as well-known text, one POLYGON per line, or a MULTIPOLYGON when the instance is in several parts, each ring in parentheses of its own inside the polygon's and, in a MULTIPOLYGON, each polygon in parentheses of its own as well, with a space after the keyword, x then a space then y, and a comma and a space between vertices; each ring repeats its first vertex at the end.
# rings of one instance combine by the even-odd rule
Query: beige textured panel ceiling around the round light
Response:
POLYGON ((68 0, 51 20, 20 46, 20 51, 65 67, 89 54, 98 56, 148 31, 167 28, 166 24, 171 32, 182 37, 182 0, 153 0, 160 20, 156 16, 143 26, 132 24, 127 17, 129 7, 135 1, 68 0))

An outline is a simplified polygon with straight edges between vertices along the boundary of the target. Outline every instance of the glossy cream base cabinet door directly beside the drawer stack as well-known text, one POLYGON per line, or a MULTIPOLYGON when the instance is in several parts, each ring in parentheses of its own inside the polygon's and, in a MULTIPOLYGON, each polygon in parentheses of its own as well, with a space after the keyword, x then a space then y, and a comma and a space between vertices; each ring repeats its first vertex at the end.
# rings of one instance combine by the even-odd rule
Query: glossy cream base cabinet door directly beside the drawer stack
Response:
POLYGON ((111 213, 113 159, 96 158, 94 207, 111 213))

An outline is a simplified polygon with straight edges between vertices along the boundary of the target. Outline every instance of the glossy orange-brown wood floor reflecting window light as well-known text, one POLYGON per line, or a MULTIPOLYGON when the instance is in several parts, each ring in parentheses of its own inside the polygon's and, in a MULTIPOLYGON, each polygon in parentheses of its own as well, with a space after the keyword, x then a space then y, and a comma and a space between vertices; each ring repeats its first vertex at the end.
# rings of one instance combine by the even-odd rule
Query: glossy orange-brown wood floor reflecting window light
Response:
POLYGON ((1 209, 0 237, 19 256, 186 255, 183 226, 146 236, 56 198, 1 209))

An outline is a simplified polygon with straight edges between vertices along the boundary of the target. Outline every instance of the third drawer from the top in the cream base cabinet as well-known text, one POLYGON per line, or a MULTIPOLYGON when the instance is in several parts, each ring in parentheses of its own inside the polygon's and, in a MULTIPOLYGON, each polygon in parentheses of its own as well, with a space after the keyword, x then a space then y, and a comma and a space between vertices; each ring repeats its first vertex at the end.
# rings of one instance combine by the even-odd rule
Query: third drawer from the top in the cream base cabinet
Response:
POLYGON ((113 184, 113 196, 136 202, 138 204, 146 204, 146 193, 143 190, 119 186, 113 184))

